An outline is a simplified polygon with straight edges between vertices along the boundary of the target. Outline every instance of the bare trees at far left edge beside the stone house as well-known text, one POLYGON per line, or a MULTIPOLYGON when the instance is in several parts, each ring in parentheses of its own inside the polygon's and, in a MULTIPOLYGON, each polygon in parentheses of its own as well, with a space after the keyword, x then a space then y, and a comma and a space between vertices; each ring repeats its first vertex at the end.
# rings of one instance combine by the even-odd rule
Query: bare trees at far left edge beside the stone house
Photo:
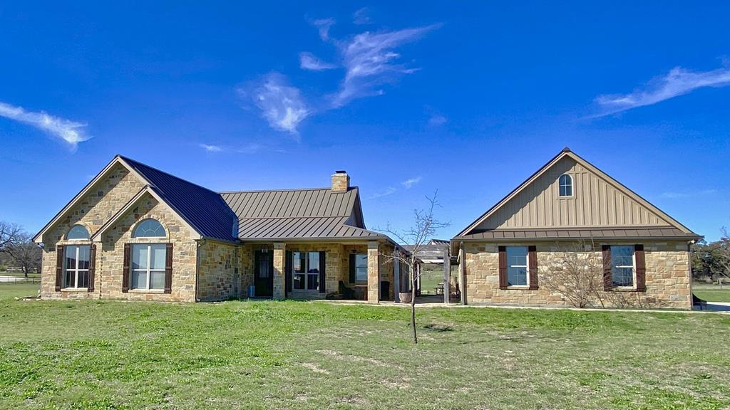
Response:
POLYGON ((41 258, 41 248, 23 227, 0 221, 0 265, 20 268, 27 277, 40 271, 41 258))

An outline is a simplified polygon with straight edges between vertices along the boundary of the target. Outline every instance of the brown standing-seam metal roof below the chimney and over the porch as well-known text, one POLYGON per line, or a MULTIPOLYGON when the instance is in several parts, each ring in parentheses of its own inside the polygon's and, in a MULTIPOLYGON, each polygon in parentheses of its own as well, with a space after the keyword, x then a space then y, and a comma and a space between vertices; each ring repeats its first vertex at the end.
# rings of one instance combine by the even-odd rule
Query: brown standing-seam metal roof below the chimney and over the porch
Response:
POLYGON ((387 239, 368 231, 357 187, 220 193, 239 217, 239 239, 387 239))

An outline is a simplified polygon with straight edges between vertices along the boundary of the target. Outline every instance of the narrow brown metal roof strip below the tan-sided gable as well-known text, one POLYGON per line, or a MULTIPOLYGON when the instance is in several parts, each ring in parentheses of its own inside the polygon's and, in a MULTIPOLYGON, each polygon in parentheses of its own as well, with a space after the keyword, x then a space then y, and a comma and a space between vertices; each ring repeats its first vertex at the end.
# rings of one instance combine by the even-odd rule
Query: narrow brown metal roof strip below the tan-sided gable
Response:
POLYGON ((561 228, 475 231, 469 235, 456 236, 453 240, 484 239, 510 241, 531 239, 554 241, 561 239, 696 239, 695 233, 685 233, 672 226, 651 228, 561 228))

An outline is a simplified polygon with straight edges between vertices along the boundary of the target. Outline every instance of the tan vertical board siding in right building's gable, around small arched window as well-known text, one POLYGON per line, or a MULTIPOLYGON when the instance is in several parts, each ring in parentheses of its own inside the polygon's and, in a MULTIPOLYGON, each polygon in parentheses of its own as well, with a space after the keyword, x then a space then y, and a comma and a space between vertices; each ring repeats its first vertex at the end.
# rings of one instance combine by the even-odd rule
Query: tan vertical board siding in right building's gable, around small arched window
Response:
POLYGON ((561 158, 540 177, 501 206, 478 229, 668 226, 606 179, 569 157, 561 158), (558 179, 569 174, 573 196, 559 197, 558 179))

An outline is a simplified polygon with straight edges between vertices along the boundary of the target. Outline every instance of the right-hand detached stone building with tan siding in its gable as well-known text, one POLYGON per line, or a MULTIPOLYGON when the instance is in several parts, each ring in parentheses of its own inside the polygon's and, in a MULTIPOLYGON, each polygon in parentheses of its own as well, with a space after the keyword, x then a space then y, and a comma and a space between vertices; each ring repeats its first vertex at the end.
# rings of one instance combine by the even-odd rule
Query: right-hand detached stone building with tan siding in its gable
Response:
POLYGON ((566 148, 451 246, 465 304, 575 306, 593 289, 586 306, 691 309, 701 238, 566 148), (572 279, 571 264, 598 283, 572 279))

